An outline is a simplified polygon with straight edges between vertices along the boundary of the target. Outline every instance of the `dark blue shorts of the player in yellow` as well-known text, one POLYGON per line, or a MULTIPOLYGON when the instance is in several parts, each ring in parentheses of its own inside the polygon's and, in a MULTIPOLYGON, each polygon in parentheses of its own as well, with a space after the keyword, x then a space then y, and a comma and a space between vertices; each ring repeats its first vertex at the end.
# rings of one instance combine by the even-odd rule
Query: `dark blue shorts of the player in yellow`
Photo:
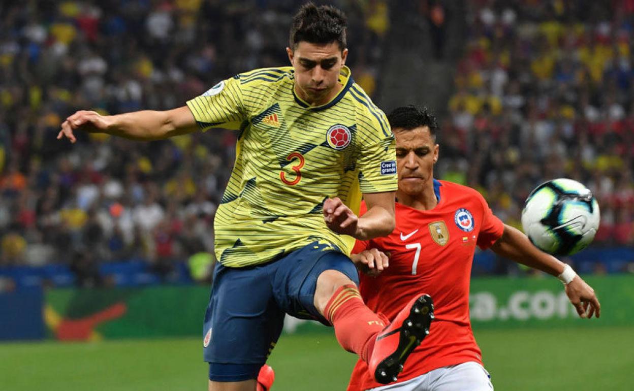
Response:
POLYGON ((336 270, 358 285, 359 276, 346 255, 324 250, 328 247, 314 242, 251 267, 216 264, 203 328, 210 380, 257 378, 280 337, 285 314, 330 325, 313 304, 317 278, 336 270))

